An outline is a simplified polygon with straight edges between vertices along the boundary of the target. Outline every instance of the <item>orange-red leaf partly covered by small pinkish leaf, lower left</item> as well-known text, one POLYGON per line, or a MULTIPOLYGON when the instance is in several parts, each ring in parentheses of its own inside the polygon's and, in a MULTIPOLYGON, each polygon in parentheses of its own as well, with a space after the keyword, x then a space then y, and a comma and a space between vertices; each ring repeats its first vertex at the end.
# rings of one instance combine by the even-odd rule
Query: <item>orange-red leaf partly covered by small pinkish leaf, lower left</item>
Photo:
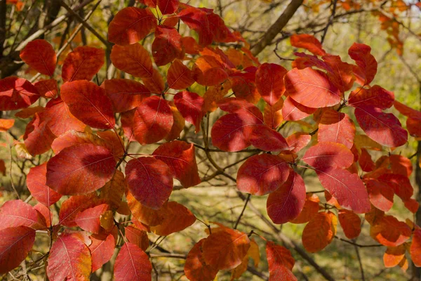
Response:
POLYGON ((74 221, 77 214, 98 204, 101 204, 101 202, 99 202, 98 196, 95 192, 88 195, 70 197, 62 202, 60 213, 58 214, 59 224, 68 227, 77 226, 74 221))

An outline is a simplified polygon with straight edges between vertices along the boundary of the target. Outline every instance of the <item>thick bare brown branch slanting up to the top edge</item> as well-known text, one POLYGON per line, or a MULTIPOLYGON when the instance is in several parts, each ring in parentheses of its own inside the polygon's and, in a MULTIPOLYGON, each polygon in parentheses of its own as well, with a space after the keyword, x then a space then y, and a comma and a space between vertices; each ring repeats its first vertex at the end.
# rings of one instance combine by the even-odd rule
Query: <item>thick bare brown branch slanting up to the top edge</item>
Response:
POLYGON ((262 39, 258 41, 255 46, 251 49, 251 53, 253 55, 258 55, 263 49, 266 48, 266 46, 270 45, 272 43, 272 40, 276 37, 279 32, 285 27, 285 25, 288 23, 290 18, 293 17, 295 12, 298 10, 298 8, 301 6, 303 0, 291 0, 290 4, 286 7, 285 11, 279 16, 279 18, 274 22, 274 24, 269 27, 269 30, 263 35, 262 39))

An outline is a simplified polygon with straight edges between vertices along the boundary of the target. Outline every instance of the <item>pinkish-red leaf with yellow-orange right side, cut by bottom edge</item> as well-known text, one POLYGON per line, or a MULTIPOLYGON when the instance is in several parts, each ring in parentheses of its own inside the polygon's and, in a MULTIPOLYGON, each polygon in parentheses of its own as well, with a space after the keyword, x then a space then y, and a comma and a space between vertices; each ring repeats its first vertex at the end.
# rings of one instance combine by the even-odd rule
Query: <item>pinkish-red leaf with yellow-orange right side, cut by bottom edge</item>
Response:
POLYGON ((89 280, 91 252, 76 235, 60 235, 48 256, 47 276, 51 281, 89 280))

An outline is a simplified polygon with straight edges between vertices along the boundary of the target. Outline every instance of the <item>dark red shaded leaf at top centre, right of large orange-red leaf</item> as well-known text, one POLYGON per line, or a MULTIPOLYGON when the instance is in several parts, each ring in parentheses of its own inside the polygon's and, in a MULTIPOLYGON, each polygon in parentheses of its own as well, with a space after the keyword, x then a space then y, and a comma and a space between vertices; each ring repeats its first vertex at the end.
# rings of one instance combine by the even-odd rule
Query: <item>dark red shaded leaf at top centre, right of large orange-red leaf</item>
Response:
POLYGON ((175 58, 184 58, 180 33, 174 27, 158 25, 152 43, 152 55, 158 66, 171 63, 175 58))

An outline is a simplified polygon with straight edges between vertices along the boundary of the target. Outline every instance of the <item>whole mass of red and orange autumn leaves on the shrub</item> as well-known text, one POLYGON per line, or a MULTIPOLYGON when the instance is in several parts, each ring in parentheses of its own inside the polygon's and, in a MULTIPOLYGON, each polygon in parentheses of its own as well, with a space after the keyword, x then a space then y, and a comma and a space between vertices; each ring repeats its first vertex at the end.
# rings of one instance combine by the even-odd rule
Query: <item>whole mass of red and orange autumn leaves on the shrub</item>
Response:
MULTIPOLYGON (((377 62, 370 46, 349 46, 346 60, 354 63, 345 63, 315 37, 293 35, 290 43, 302 52, 287 70, 260 63, 241 34, 208 8, 178 0, 144 2, 147 8, 119 11, 108 30, 112 64, 138 79, 98 84, 105 50, 91 46, 69 53, 60 77, 53 46, 38 39, 20 58, 43 79, 0 80, 0 110, 20 110, 16 117, 30 119, 23 143, 15 145, 32 156, 53 155, 27 175, 27 188, 39 203, 11 200, 0 209, 0 273, 19 266, 36 235, 46 230, 52 244, 43 259, 51 281, 88 280, 116 247, 115 280, 151 280, 147 233, 171 235, 196 221, 183 204, 168 201, 175 180, 182 188, 201 183, 196 150, 228 155, 250 147, 258 153, 234 178, 239 192, 269 195, 273 223, 307 223, 302 233, 307 251, 327 247, 338 222, 347 238, 359 237, 364 217, 373 240, 387 247, 386 267, 408 266, 406 252, 421 266, 421 228, 410 219, 418 209, 408 179, 413 166, 395 153, 408 133, 421 137, 421 112, 372 84, 377 62), (182 37, 179 25, 197 36, 182 37), (149 34, 150 51, 139 43, 149 34), (230 42, 236 48, 218 47, 230 42), (204 95, 195 93, 193 84, 203 86, 204 95), (45 107, 31 106, 40 98, 48 100, 45 107), (392 107, 408 117, 406 126, 392 107), (209 124, 209 115, 220 116, 216 110, 225 113, 209 124), (305 118, 313 121, 307 130, 279 132, 305 118), (178 140, 185 122, 203 136, 203 147, 178 140), (152 155, 135 155, 128 152, 132 142, 159 147, 152 155), (302 169, 315 172, 324 196, 306 191, 302 169), (406 221, 387 214, 394 195, 408 209, 406 221), (125 223, 116 221, 116 213, 127 217, 125 223)), ((0 131, 12 126, 12 119, 0 120, 0 131)), ((264 250, 255 239, 265 240, 262 233, 207 226, 208 236, 186 250, 189 280, 214 280, 219 270, 239 278, 248 259, 258 266, 264 250)), ((265 251, 269 280, 297 280, 286 247, 267 241, 265 251)))

